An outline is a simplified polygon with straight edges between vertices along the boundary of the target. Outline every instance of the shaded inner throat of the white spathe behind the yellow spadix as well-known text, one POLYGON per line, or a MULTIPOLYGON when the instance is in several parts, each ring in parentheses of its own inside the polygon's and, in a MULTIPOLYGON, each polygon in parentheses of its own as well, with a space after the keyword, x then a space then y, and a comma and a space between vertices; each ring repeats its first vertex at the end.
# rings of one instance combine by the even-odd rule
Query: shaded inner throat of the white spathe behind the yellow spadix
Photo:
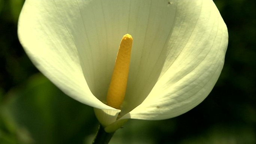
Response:
POLYGON ((92 93, 101 101, 106 101, 120 40, 126 33, 132 35, 127 96, 122 108, 132 110, 146 98, 161 72, 158 67, 165 59, 159 59, 159 55, 165 55, 174 6, 166 0, 94 0, 79 4, 79 8, 82 14, 76 20, 77 31, 85 39, 74 40, 79 53, 90 53, 81 56, 83 72, 92 93))

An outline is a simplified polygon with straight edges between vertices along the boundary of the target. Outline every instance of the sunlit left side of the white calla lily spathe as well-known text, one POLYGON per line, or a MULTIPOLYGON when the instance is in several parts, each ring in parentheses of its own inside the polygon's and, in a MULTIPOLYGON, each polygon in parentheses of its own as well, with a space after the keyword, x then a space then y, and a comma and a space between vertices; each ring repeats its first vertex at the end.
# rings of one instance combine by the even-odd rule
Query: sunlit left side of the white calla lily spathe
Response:
POLYGON ((26 0, 18 22, 19 40, 34 65, 67 95, 92 107, 114 109, 91 93, 90 81, 83 76, 74 40, 80 36, 73 22, 77 11, 75 1, 26 0))

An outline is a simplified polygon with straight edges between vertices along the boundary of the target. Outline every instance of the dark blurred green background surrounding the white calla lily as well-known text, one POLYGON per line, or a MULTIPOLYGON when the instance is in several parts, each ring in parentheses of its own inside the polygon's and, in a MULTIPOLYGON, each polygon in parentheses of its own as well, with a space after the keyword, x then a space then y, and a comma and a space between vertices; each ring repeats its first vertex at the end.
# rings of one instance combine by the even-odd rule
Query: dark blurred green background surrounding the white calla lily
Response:
MULTIPOLYGON (((168 120, 129 120, 110 144, 255 144, 255 0, 214 0, 229 31, 222 74, 197 107, 168 120)), ((24 0, 0 0, 0 144, 87 144, 93 109, 63 94, 17 37, 24 0)))

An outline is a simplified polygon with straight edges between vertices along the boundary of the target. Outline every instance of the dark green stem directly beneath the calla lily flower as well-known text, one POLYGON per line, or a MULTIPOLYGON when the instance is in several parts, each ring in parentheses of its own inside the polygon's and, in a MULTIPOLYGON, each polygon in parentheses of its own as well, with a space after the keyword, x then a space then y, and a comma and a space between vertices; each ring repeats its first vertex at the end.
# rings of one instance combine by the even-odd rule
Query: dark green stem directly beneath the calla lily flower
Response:
POLYGON ((115 132, 107 133, 104 131, 103 126, 99 126, 99 130, 92 144, 108 144, 115 132))

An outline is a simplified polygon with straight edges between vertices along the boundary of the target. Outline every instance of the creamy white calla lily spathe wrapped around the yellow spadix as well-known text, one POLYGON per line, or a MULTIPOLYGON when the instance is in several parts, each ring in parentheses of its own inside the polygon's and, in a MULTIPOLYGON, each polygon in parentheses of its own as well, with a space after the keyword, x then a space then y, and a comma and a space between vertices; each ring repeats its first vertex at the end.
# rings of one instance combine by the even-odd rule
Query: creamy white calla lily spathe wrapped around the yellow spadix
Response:
POLYGON ((94 107, 107 132, 127 119, 169 119, 198 105, 219 78, 228 45, 212 0, 26 0, 18 36, 34 65, 94 107), (126 33, 133 44, 118 110, 106 94, 126 33))

